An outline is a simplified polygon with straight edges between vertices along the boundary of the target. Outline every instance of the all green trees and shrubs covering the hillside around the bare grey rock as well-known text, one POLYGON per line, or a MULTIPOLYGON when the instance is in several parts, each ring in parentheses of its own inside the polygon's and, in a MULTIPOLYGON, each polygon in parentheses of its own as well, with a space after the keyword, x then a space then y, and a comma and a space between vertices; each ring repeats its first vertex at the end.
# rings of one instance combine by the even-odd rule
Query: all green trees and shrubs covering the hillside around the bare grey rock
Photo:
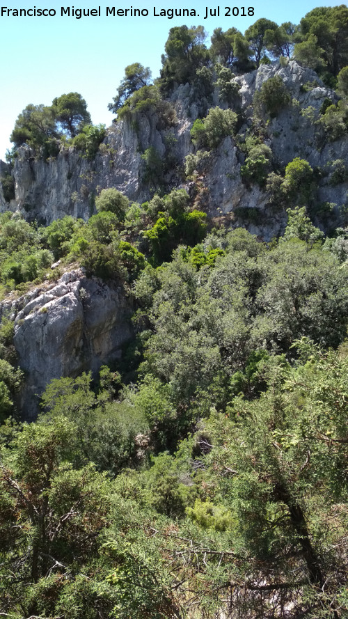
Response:
MULTIPOLYGON (((216 29, 209 48, 205 38, 202 26, 171 29, 161 77, 127 66, 109 104, 121 130, 139 132, 150 112, 171 129, 172 95, 190 85, 193 147, 182 169, 169 147, 141 152, 148 201, 100 187, 86 220, 0 214, 10 619, 348 618, 347 204, 317 203, 322 171, 306 159, 274 161, 272 119, 296 108, 283 80, 264 81, 246 113, 237 79, 276 58, 317 71, 331 99, 302 118, 323 148, 345 143, 348 9, 317 8, 299 25, 259 19, 244 35, 216 29), (207 166, 229 137, 250 195, 267 192, 267 216, 285 216, 270 242, 237 226, 255 223, 253 203, 228 217, 205 207, 207 166), (52 379, 24 423, 16 303, 77 266, 132 299, 134 337, 99 373, 52 379)), ((10 164, 24 144, 45 164, 68 146, 93 162, 107 133, 78 93, 30 105, 10 164)), ((345 160, 326 176, 344 189, 345 160)), ((49 320, 49 304, 33 311, 49 320)))

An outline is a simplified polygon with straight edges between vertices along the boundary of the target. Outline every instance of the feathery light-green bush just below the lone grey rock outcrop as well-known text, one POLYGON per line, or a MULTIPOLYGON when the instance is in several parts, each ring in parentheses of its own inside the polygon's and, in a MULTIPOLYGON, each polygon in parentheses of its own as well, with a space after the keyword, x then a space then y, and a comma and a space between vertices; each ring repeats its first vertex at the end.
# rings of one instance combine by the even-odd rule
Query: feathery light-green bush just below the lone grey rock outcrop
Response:
POLYGON ((139 407, 129 401, 116 402, 114 387, 120 388, 119 376, 102 368, 100 391, 90 388, 90 375, 78 379, 54 379, 42 395, 45 415, 42 423, 61 414, 77 427, 73 443, 74 462, 93 462, 99 471, 114 476, 123 467, 141 463, 141 450, 136 437, 148 429, 139 407))

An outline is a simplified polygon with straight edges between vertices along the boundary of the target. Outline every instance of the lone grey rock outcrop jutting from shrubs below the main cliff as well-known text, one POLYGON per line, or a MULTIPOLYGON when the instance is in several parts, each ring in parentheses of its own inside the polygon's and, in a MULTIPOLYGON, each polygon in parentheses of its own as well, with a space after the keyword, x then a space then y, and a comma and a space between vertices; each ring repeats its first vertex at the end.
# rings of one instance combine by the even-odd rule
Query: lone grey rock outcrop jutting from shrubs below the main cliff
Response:
POLYGON ((25 375, 19 407, 28 420, 37 416, 50 380, 97 372, 102 363, 119 359, 132 338, 132 300, 116 285, 86 278, 81 269, 7 301, 3 312, 15 318, 14 344, 25 375))

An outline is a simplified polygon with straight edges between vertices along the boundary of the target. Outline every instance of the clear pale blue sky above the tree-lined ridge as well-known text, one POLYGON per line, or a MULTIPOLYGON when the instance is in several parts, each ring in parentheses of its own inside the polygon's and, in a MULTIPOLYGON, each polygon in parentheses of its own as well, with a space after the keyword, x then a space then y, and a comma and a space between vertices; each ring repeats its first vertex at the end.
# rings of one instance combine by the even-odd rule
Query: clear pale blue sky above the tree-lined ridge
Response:
MULTIPOLYGON (((0 157, 4 159, 10 148, 9 136, 18 114, 27 104, 49 105, 54 97, 63 93, 78 92, 86 99, 93 123, 111 124, 112 114, 107 104, 116 94, 116 88, 124 75, 124 68, 133 62, 149 66, 152 77, 159 75, 161 54, 168 31, 173 26, 203 24, 209 36, 214 28, 227 30, 235 26, 244 33, 246 28, 260 17, 267 17, 278 24, 291 21, 299 23, 315 6, 322 6, 315 0, 249 0, 248 3, 207 2, 187 0, 174 3, 170 0, 99 0, 100 5, 90 0, 74 4, 53 0, 3 0, 3 7, 54 9, 54 17, 0 17, 1 45, 1 96, 0 96, 0 157), (70 7, 70 17, 61 16, 61 7, 70 7), (100 6, 101 16, 72 17, 72 7, 92 9, 100 6), (148 16, 106 17, 106 7, 117 9, 141 8, 148 10, 148 16), (241 15, 228 17, 226 6, 240 8, 253 6, 251 17, 241 15), (208 17, 208 11, 220 8, 220 16, 208 17), (196 17, 154 16, 154 8, 190 8, 196 10, 196 17)), ((338 2, 327 3, 335 6, 338 2)), ((247 10, 245 10, 247 13, 247 10)), ((235 10, 235 13, 237 11, 235 10)), ((209 44, 209 39, 207 40, 209 44)))

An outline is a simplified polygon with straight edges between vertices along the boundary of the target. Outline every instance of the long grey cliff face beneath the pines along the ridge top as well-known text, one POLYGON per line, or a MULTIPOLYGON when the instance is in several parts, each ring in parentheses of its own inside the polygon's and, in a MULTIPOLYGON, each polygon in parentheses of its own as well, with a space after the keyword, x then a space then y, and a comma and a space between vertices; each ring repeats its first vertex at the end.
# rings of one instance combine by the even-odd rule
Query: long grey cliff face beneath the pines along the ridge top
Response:
MULTIPOLYGON (((266 143, 274 154, 274 164, 278 169, 284 169, 294 157, 306 159, 313 168, 323 171, 317 186, 317 203, 330 202, 341 207, 347 201, 347 182, 332 187, 327 170, 329 162, 348 159, 348 141, 320 142, 316 124, 319 110, 327 98, 335 101, 335 93, 324 87, 313 70, 300 67, 294 61, 285 66, 275 61, 237 77, 239 102, 245 118, 240 133, 245 133, 251 125, 255 91, 276 75, 283 79, 293 103, 271 119, 267 127, 266 143), (310 113, 303 114, 306 109, 310 113)), ((136 127, 126 121, 110 127, 92 162, 74 148, 62 148, 57 157, 47 161, 35 159, 29 148, 20 148, 13 170, 16 202, 6 205, 0 193, 0 210, 17 206, 26 219, 49 224, 67 214, 88 219, 95 212, 95 196, 102 188, 116 187, 130 200, 139 203, 148 200, 152 191, 149 183, 143 181, 145 162, 141 152, 152 146, 161 157, 166 157, 170 143, 171 159, 179 169, 183 166, 186 155, 193 152, 190 129, 198 115, 198 105, 192 95, 189 84, 179 86, 173 93, 171 103, 175 107, 177 123, 172 127, 163 128, 155 112, 142 114, 136 127)), ((217 91, 213 101, 214 105, 226 107, 219 102, 217 91)), ((238 209, 246 212, 248 207, 258 209, 262 214, 262 225, 239 221, 237 212, 234 224, 242 224, 252 233, 269 240, 282 232, 286 218, 284 214, 274 216, 267 212, 268 197, 258 185, 246 187, 240 176, 242 164, 242 150, 232 139, 225 139, 212 152, 209 166, 200 180, 205 199, 198 202, 198 206, 212 217, 233 214, 238 209)), ((168 191, 173 187, 187 187, 180 176, 175 177, 175 173, 167 175, 165 180, 168 191)))

